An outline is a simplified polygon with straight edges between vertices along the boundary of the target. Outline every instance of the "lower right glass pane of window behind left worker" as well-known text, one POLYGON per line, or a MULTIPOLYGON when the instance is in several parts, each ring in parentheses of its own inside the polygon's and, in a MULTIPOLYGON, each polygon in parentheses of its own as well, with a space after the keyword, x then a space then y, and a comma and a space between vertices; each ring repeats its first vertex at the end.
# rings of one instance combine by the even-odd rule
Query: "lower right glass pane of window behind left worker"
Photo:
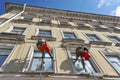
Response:
POLYGON ((52 65, 51 58, 45 58, 44 61, 45 61, 44 70, 45 71, 53 71, 53 65, 52 65))

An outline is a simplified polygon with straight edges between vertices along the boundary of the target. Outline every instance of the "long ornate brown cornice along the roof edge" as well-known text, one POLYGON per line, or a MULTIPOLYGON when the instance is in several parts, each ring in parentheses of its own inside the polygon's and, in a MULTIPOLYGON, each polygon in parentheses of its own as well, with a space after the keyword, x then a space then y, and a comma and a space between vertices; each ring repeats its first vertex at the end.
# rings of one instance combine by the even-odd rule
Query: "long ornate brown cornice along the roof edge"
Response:
MULTIPOLYGON (((22 10, 23 5, 20 4, 12 4, 6 3, 6 11, 12 10, 22 10)), ((26 6, 25 12, 33 13, 33 14, 46 14, 52 15, 61 18, 68 18, 72 20, 91 20, 95 19, 101 22, 113 22, 119 23, 120 17, 116 16, 108 16, 108 15, 99 15, 99 14, 91 14, 91 13, 83 13, 83 12, 75 12, 75 11, 68 11, 68 10, 58 10, 58 9, 51 9, 51 8, 43 8, 43 7, 35 7, 35 6, 26 6)))

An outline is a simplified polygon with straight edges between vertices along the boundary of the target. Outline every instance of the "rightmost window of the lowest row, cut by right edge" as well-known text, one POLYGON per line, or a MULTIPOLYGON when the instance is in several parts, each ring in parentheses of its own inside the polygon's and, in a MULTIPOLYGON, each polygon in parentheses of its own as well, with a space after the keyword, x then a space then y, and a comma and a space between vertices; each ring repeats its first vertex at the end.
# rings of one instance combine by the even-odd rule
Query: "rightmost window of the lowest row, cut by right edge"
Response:
POLYGON ((119 56, 112 56, 107 55, 108 60, 112 63, 114 68, 120 72, 120 57, 119 56))

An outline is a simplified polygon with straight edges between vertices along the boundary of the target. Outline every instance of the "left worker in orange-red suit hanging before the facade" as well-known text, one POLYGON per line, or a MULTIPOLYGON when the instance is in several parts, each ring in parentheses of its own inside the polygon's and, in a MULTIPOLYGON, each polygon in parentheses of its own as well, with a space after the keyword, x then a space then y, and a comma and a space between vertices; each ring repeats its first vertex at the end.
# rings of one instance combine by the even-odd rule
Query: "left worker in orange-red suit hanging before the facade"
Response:
POLYGON ((51 59, 53 59, 53 56, 51 54, 51 48, 45 40, 38 40, 36 46, 38 50, 42 53, 42 59, 45 57, 45 52, 49 53, 51 59))

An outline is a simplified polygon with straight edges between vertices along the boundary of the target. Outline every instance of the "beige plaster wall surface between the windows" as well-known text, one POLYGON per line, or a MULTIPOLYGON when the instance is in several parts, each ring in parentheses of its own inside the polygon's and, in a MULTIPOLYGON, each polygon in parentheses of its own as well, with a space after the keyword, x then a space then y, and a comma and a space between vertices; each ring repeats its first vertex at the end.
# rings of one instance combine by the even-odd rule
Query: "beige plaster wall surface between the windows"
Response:
MULTIPOLYGON (((12 13, 7 13, 3 15, 2 17, 9 18, 12 13)), ((56 21, 53 21, 55 24, 56 21)), ((62 44, 62 33, 61 31, 69 31, 69 32, 75 32, 78 36, 78 38, 85 40, 85 43, 89 43, 89 40, 86 38, 84 33, 94 33, 99 35, 103 40, 107 42, 111 42, 108 38, 106 38, 104 35, 111 34, 109 32, 97 32, 97 31, 90 31, 90 30, 78 30, 78 29, 70 29, 70 28, 59 28, 57 25, 54 25, 54 27, 50 26, 37 26, 35 24, 19 24, 19 23, 8 23, 4 27, 0 28, 0 32, 4 32, 8 29, 10 26, 20 26, 20 27, 26 27, 27 31, 25 32, 25 43, 24 44, 18 44, 17 48, 13 52, 11 58, 6 62, 6 67, 4 71, 13 71, 13 72, 19 72, 22 71, 28 51, 30 46, 34 45, 36 41, 30 40, 32 35, 35 35, 35 31, 37 28, 40 29, 50 29, 53 31, 54 37, 56 37, 56 41, 50 41, 48 42, 50 46, 55 47, 56 51, 56 67, 57 67, 57 73, 74 73, 73 67, 71 65, 70 59, 68 57, 68 52, 65 48, 61 47, 62 44)), ((113 35, 116 33, 112 33, 113 35)), ((119 34, 117 34, 119 36, 119 34)), ((104 50, 106 48, 109 48, 111 50, 115 50, 120 52, 118 50, 118 47, 114 46, 114 43, 112 46, 104 46, 104 48, 101 48, 100 46, 91 46, 90 52, 92 57, 96 60, 99 67, 102 69, 102 71, 105 74, 108 75, 118 75, 117 72, 113 69, 113 67, 106 61, 106 59, 102 56, 101 53, 99 53, 99 50, 104 50)))

